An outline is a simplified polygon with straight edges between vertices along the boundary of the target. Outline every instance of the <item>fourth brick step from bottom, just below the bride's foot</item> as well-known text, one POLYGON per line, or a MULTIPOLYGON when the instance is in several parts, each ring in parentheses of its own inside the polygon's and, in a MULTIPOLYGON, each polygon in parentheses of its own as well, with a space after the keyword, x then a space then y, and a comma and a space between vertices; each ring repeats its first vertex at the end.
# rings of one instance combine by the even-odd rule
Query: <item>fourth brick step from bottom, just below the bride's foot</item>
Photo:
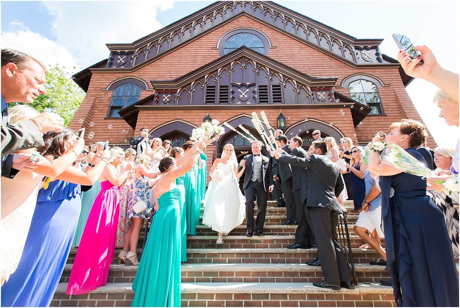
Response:
MULTIPOLYGON (((228 235, 222 237, 224 243, 216 244, 217 232, 212 236, 188 236, 187 248, 286 248, 295 243, 294 235, 252 236, 228 235)), ((385 248, 385 241, 382 246, 385 248)), ((357 235, 350 236, 351 248, 358 248, 364 241, 357 235)))

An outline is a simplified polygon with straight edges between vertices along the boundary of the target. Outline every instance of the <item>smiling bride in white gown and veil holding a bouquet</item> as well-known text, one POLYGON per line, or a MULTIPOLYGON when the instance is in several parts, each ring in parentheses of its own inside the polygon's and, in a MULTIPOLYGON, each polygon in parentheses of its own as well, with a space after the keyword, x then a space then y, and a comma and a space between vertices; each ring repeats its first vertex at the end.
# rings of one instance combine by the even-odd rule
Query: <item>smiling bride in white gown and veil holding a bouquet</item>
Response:
POLYGON ((244 173, 245 166, 238 172, 233 145, 227 143, 221 158, 211 167, 211 181, 204 198, 203 224, 219 232, 216 244, 222 244, 222 234, 228 234, 242 224, 246 213, 244 197, 237 179, 244 173))

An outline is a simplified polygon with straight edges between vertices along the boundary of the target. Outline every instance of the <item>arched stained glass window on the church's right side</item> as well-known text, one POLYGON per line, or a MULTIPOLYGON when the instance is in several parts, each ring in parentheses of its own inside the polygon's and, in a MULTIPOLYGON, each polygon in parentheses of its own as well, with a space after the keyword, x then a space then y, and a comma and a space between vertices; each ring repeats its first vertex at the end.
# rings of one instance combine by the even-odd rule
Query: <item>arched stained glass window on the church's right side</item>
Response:
POLYGON ((372 108, 369 114, 382 114, 379 90, 373 82, 363 79, 353 81, 348 85, 348 91, 351 99, 372 108))

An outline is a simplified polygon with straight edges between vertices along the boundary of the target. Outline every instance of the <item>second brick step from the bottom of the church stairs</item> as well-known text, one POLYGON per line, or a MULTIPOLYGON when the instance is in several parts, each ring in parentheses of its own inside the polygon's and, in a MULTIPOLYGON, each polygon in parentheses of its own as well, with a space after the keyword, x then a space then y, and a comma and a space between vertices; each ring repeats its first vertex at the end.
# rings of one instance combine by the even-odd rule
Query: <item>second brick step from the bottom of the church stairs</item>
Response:
MULTIPOLYGON (((66 264, 60 282, 68 282, 73 264, 66 264)), ((138 266, 112 264, 107 282, 133 282, 138 266)), ((355 264, 358 283, 387 278, 385 266, 355 264)), ((210 263, 182 264, 182 282, 314 282, 323 278, 321 267, 306 264, 210 263)))

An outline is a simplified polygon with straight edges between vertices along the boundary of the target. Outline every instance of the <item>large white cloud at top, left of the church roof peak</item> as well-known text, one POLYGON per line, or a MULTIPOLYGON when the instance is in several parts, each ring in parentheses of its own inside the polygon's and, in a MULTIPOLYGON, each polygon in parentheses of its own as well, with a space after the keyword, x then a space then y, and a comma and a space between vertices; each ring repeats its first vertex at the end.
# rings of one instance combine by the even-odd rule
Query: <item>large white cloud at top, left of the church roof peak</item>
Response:
POLYGON ((161 29, 155 19, 157 8, 172 7, 174 1, 158 2, 47 1, 43 5, 52 15, 57 44, 85 68, 109 57, 106 43, 132 43, 161 29))

